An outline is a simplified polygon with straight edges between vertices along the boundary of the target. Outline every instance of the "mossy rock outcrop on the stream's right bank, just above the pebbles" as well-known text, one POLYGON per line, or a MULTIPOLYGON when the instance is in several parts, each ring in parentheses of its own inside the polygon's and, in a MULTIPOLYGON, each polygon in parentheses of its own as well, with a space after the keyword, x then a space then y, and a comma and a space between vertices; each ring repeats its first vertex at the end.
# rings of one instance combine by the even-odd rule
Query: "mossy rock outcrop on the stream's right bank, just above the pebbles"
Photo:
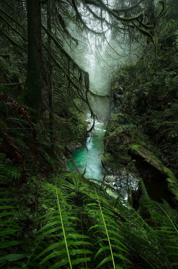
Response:
POLYGON ((145 148, 153 148, 148 137, 137 127, 129 115, 117 113, 110 121, 105 132, 105 153, 101 162, 103 166, 119 167, 131 162, 127 150, 132 144, 140 144, 145 148), (109 157, 108 157, 109 154, 109 157))

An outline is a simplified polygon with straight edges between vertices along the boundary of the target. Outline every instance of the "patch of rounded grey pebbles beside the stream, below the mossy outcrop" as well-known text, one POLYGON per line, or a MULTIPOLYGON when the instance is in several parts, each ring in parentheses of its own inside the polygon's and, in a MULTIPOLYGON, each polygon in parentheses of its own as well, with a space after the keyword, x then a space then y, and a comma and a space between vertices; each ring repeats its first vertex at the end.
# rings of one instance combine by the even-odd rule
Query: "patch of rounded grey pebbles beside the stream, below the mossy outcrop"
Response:
POLYGON ((139 179, 139 172, 129 172, 127 175, 127 171, 123 167, 117 172, 117 175, 107 175, 104 183, 119 191, 120 195, 127 200, 132 190, 138 190, 139 179))

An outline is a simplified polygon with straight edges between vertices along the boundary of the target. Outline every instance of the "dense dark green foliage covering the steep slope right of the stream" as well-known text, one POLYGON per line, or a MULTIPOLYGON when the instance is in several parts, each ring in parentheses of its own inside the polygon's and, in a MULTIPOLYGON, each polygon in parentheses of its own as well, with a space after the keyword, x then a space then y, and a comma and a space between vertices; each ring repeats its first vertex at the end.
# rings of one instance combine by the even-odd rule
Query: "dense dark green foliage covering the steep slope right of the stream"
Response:
MULTIPOLYGON (((134 139, 129 143, 137 140, 137 144, 165 160, 177 175, 177 22, 166 20, 163 26, 156 37, 157 57, 149 70, 142 72, 149 58, 149 51, 145 49, 145 56, 127 65, 127 71, 120 70, 119 76, 113 76, 111 86, 116 114, 105 134, 110 138, 104 141, 110 145, 106 150, 114 149, 118 136, 122 138, 121 130, 132 129, 134 139)), ((125 130, 123 134, 127 136, 125 130)), ((120 142, 117 148, 122 144, 120 142)))

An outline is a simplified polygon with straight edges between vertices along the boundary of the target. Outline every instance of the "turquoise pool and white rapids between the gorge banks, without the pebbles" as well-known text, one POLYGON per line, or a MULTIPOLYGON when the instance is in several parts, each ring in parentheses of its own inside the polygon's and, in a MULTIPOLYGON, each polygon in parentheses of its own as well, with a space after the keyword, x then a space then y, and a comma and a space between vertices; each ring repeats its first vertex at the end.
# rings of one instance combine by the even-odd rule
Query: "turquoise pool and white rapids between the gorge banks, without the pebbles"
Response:
MULTIPOLYGON (((90 119, 89 115, 90 114, 87 114, 87 121, 90 121, 92 124, 93 120, 90 119)), ((88 129, 90 129, 90 126, 91 125, 88 125, 88 129)), ((71 154, 74 162, 76 163, 81 173, 84 172, 87 163, 86 173, 84 175, 85 178, 94 178, 98 180, 103 179, 101 158, 104 153, 104 144, 103 140, 102 141, 99 140, 101 140, 104 137, 105 131, 106 126, 104 126, 104 123, 95 121, 95 131, 94 130, 92 131, 91 137, 88 137, 86 141, 88 152, 86 148, 82 146, 81 148, 79 148, 78 150, 74 151, 71 154), (97 141, 99 142, 96 143, 97 141)), ((73 172, 77 172, 77 169, 73 164, 73 161, 70 159, 70 157, 67 167, 72 169, 73 172)))

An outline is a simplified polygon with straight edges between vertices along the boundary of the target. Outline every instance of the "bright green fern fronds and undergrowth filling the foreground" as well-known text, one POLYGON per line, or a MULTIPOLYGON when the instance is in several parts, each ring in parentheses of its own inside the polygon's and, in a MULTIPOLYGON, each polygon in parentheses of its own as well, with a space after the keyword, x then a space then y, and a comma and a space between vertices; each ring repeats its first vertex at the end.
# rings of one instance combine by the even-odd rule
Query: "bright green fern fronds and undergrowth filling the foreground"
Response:
MULTIPOLYGON (((3 179, 6 183, 7 180, 9 184, 13 182, 3 179)), ((134 268, 140 264, 142 268, 162 268, 164 263, 168 268, 170 263, 176 265, 177 236, 172 233, 169 236, 169 231, 172 227, 176 233, 177 215, 167 203, 155 203, 144 194, 143 203, 153 216, 154 228, 136 211, 124 207, 119 199, 115 203, 104 185, 61 170, 51 179, 42 178, 35 213, 37 184, 37 177, 29 178, 28 185, 21 187, 20 199, 13 185, 5 191, 1 189, 3 267, 134 268), (119 213, 126 222, 118 217, 119 213)))

